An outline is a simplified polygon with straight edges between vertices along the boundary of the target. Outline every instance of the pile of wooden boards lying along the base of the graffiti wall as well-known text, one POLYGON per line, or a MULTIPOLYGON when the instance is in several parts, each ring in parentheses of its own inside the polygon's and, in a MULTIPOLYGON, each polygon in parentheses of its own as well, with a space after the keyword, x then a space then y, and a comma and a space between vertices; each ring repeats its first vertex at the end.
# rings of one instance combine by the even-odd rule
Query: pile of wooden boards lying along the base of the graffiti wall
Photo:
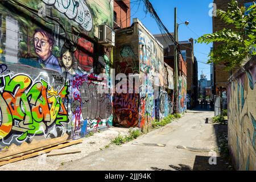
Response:
POLYGON ((82 143, 82 139, 68 140, 68 135, 65 134, 63 137, 53 139, 40 141, 32 140, 30 144, 23 142, 20 146, 12 144, 9 147, 9 150, 0 152, 0 166, 46 154, 52 150, 72 146, 73 144, 78 143, 82 143))

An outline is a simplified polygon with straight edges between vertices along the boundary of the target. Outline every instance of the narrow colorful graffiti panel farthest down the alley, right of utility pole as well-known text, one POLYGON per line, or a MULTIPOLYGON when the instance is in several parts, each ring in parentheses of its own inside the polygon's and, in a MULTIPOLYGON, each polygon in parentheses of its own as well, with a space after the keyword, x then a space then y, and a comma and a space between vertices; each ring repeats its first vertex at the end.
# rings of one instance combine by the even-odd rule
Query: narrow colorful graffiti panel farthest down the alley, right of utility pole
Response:
POLYGON ((185 76, 179 77, 179 113, 187 111, 187 79, 185 76))

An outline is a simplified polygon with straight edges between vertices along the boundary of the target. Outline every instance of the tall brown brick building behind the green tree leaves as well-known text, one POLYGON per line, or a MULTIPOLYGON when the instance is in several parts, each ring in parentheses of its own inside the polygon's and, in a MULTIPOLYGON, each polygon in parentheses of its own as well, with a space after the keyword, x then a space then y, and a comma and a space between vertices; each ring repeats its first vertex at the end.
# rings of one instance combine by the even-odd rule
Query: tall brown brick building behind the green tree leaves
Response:
MULTIPOLYGON (((214 0, 213 3, 215 3, 217 5, 217 9, 221 9, 221 10, 228 10, 228 3, 231 0, 214 0)), ((246 3, 250 3, 253 2, 251 0, 238 0, 238 6, 242 7, 242 6, 246 6, 246 3)), ((213 32, 216 31, 220 31, 223 28, 232 28, 232 26, 230 26, 229 24, 226 24, 224 22, 222 22, 222 20, 220 18, 217 18, 215 16, 213 16, 213 32)), ((220 45, 218 43, 213 43, 213 49, 216 49, 216 47, 220 45)), ((213 94, 217 94, 218 90, 220 89, 220 87, 224 88, 224 90, 226 90, 226 83, 228 81, 228 78, 230 77, 230 75, 234 72, 236 72, 237 70, 233 70, 231 72, 225 71, 224 70, 225 65, 213 65, 213 84, 214 84, 214 89, 213 89, 213 94)))

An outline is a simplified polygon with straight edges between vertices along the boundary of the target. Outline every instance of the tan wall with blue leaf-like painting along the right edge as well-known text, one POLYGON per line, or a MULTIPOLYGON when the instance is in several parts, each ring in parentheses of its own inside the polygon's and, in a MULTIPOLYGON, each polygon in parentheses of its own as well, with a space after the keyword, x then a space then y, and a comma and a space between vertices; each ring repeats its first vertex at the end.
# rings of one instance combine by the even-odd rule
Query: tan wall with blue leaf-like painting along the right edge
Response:
POLYGON ((256 57, 228 84, 228 133, 233 164, 256 170, 256 57))

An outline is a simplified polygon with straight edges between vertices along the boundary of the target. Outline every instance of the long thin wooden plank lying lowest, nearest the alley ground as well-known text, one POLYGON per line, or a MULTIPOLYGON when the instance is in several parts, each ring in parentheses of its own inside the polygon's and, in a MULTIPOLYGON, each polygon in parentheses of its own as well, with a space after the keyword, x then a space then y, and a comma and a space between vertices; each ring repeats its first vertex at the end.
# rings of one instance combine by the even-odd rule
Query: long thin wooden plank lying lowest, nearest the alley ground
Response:
POLYGON ((13 158, 13 159, 10 159, 10 160, 7 160, 7 161, 3 161, 3 162, 0 162, 0 166, 3 166, 5 164, 9 164, 9 163, 13 163, 13 162, 17 162, 19 160, 24 160, 24 159, 28 159, 28 158, 33 158, 35 156, 38 156, 38 155, 41 155, 42 152, 43 153, 48 153, 54 149, 60 149, 60 148, 64 148, 64 147, 68 147, 68 146, 72 146, 73 144, 78 144, 78 143, 82 143, 83 139, 79 139, 79 140, 73 140, 72 142, 67 142, 65 144, 59 144, 58 146, 56 147, 51 147, 51 148, 47 148, 45 150, 42 150, 42 151, 38 151, 38 152, 34 152, 32 154, 27 154, 27 155, 23 155, 23 156, 20 156, 18 158, 13 158))

